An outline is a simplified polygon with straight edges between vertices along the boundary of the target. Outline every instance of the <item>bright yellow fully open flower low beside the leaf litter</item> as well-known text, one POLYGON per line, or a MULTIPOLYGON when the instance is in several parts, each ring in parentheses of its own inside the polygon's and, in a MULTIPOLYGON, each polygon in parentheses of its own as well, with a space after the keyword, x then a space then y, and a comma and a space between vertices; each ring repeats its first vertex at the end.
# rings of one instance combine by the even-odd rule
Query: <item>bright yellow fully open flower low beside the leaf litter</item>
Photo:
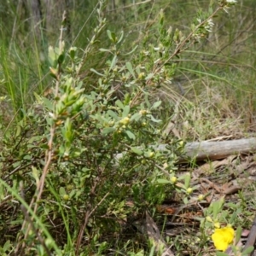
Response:
POLYGON ((212 234, 212 241, 216 249, 225 251, 234 239, 235 230, 230 227, 215 229, 212 234))

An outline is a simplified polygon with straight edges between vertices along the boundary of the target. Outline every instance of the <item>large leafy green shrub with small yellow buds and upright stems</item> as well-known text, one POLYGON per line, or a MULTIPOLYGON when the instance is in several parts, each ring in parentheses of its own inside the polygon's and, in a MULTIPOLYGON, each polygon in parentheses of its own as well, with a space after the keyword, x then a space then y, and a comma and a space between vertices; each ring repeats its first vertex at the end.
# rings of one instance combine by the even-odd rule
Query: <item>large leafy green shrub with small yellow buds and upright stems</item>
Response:
MULTIPOLYGON (((152 24, 155 32, 143 33, 130 51, 123 48, 129 35, 108 28, 104 1, 98 3, 97 24, 82 49, 63 40, 64 12, 58 44, 48 48, 51 90, 34 93, 36 102, 1 135, 3 254, 161 255, 171 253, 171 247, 183 250, 178 241, 148 230, 148 222, 154 224, 150 216, 158 217, 157 206, 165 199, 178 195, 189 205, 196 189, 189 174, 177 177, 183 141, 162 132, 162 101, 155 101, 154 94, 172 86, 174 60, 201 43, 215 15, 233 3, 220 1, 207 14, 201 12, 188 33, 167 26, 161 10, 152 24), (91 67, 88 60, 98 55, 99 67, 91 67)), ((24 73, 21 81, 27 81, 24 73)), ((19 84, 9 83, 12 96, 19 84)), ((215 204, 207 214, 217 218, 222 207, 222 202, 215 204)), ((198 250, 210 244, 210 232, 212 224, 202 221, 198 250)))

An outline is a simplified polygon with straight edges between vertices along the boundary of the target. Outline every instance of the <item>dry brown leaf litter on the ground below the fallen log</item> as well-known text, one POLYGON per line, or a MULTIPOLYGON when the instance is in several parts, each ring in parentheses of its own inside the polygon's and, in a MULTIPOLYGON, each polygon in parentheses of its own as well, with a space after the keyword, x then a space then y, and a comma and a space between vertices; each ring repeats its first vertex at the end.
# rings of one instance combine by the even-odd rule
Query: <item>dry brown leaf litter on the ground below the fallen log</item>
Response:
MULTIPOLYGON (((230 155, 223 160, 202 161, 194 170, 189 165, 183 166, 184 172, 192 174, 191 183, 196 189, 186 205, 180 198, 174 198, 166 200, 162 205, 156 207, 158 213, 166 216, 165 230, 162 236, 183 236, 183 240, 187 241, 191 234, 196 236, 198 233, 200 221, 205 217, 204 210, 210 206, 212 201, 218 201, 224 197, 225 206, 228 203, 241 201, 242 196, 247 200, 247 212, 251 214, 247 217, 247 224, 242 227, 241 239, 237 241, 237 245, 243 247, 243 251, 247 247, 253 246, 256 240, 256 231, 253 230, 256 218, 254 219, 255 224, 253 224, 254 216, 250 204, 253 203, 252 200, 255 197, 255 160, 256 154, 239 154, 230 155), (207 195, 205 201, 199 203, 198 195, 207 195)), ((234 228, 236 229, 236 227, 234 228)), ((214 255, 215 248, 213 246, 209 248, 210 251, 202 255, 214 255)), ((198 247, 191 246, 188 250, 183 251, 183 255, 195 255, 196 250, 198 247)), ((225 253, 233 255, 230 247, 225 253)))

